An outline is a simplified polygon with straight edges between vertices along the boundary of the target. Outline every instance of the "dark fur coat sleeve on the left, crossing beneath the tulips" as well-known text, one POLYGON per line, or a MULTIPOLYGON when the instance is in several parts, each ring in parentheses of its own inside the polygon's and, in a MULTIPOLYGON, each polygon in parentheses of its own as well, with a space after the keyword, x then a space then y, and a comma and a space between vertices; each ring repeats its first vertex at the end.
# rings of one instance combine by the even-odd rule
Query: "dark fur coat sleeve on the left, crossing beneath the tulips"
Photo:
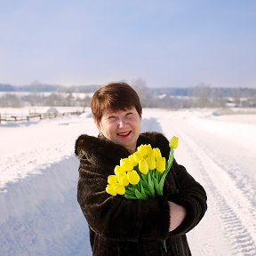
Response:
POLYGON ((90 228, 108 239, 138 241, 141 238, 164 240, 170 224, 166 198, 127 200, 109 196, 108 177, 100 166, 80 160, 77 200, 90 228))

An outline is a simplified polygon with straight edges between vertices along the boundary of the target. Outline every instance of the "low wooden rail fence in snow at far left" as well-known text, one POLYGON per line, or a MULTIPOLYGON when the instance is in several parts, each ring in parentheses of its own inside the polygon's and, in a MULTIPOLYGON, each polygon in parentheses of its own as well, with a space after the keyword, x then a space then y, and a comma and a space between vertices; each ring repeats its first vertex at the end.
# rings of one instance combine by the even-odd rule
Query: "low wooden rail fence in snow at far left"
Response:
POLYGON ((1 114, 0 113, 0 124, 3 122, 20 122, 20 121, 34 121, 43 119, 52 119, 56 117, 70 116, 70 115, 81 115, 83 112, 65 112, 65 113, 29 113, 28 115, 16 115, 16 114, 1 114))

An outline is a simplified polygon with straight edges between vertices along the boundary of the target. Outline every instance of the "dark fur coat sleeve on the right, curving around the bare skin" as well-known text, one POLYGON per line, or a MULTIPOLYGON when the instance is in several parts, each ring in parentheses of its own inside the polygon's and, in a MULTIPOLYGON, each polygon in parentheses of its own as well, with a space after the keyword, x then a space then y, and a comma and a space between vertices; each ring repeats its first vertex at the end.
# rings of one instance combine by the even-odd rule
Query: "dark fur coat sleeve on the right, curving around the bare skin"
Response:
POLYGON ((187 211, 185 220, 171 232, 172 235, 179 235, 195 228, 202 220, 207 210, 207 196, 204 188, 187 172, 184 166, 174 161, 172 172, 174 172, 173 176, 176 178, 179 189, 168 199, 175 204, 182 205, 187 211))

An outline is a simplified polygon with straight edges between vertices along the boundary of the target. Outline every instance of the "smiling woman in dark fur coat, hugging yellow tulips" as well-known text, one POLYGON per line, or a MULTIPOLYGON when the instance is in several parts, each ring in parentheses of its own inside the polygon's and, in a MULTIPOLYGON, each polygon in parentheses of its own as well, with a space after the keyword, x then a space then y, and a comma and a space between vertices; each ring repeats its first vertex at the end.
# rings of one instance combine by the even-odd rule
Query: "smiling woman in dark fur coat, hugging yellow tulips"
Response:
POLYGON ((100 135, 79 136, 75 153, 80 160, 77 200, 89 224, 92 255, 191 255, 185 234, 207 209, 204 188, 174 160, 164 196, 148 200, 109 196, 108 175, 114 174, 121 158, 141 144, 151 144, 168 159, 169 141, 157 132, 140 134, 140 99, 128 84, 101 87, 91 108, 100 135))

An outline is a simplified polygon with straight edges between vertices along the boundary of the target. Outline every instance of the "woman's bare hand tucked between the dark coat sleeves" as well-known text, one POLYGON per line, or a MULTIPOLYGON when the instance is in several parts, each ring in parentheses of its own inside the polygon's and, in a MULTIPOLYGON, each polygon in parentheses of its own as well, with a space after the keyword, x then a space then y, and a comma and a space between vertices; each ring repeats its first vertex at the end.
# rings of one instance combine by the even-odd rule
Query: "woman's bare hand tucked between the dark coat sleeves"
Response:
POLYGON ((179 204, 175 204, 170 201, 168 203, 170 208, 169 232, 171 232, 175 228, 179 227, 182 221, 185 219, 186 209, 183 206, 180 206, 179 204))

